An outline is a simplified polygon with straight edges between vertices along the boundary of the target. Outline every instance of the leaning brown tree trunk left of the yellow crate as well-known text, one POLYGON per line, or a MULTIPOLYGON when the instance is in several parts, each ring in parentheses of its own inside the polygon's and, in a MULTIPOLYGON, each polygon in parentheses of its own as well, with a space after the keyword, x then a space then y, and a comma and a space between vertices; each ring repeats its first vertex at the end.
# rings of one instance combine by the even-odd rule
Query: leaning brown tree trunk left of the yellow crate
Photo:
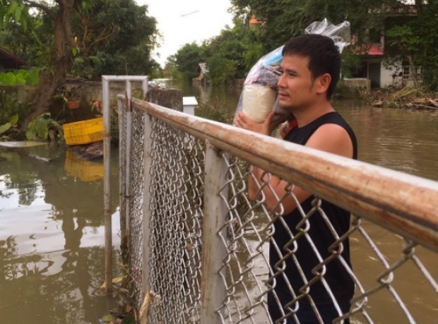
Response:
POLYGON ((57 1, 59 9, 54 16, 54 49, 53 73, 42 73, 37 95, 32 102, 33 111, 23 120, 20 125, 20 131, 25 132, 28 129, 30 121, 41 114, 49 111, 49 105, 54 96, 54 92, 65 82, 66 73, 73 64, 71 49, 66 50, 66 44, 69 47, 74 45, 73 35, 71 34, 70 16, 74 0, 57 1))

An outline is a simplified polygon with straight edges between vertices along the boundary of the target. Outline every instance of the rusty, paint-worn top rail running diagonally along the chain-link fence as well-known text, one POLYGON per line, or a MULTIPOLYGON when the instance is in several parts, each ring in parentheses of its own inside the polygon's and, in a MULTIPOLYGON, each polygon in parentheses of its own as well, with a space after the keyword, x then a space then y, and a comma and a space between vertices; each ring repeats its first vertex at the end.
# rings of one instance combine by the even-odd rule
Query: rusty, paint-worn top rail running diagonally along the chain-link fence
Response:
POLYGON ((174 128, 208 140, 220 150, 248 160, 358 217, 438 251, 436 181, 169 111, 150 102, 133 99, 132 103, 174 128), (272 150, 273 146, 277 149, 272 150), (285 160, 290 154, 294 159, 285 160), (342 193, 342 201, 338 193, 342 193))

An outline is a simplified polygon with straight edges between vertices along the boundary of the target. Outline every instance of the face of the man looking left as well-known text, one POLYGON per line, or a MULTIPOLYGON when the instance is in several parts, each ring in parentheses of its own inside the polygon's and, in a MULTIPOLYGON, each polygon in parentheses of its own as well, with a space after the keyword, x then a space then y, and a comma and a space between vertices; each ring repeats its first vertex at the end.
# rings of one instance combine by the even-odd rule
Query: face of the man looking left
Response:
POLYGON ((309 58, 283 56, 281 76, 278 80, 278 103, 289 111, 303 110, 316 99, 314 81, 309 68, 309 58))

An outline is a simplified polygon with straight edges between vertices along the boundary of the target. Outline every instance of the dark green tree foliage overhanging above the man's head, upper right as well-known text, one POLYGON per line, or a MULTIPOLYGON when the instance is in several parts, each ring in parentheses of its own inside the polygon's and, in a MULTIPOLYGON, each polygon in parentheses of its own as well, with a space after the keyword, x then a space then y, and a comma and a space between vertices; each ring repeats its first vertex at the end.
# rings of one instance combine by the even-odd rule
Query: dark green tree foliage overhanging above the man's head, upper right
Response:
MULTIPOLYGON (((327 18, 338 24, 348 19, 357 53, 362 44, 379 42, 385 35, 386 59, 398 57, 424 67, 424 80, 438 89, 438 0, 231 0, 232 11, 246 21, 262 22, 260 42, 270 52, 291 37, 301 35, 310 23, 327 18), (401 56, 399 54, 402 54, 401 56)), ((398 60, 399 62, 400 60, 398 60)), ((415 76, 414 76, 415 78, 415 76)))

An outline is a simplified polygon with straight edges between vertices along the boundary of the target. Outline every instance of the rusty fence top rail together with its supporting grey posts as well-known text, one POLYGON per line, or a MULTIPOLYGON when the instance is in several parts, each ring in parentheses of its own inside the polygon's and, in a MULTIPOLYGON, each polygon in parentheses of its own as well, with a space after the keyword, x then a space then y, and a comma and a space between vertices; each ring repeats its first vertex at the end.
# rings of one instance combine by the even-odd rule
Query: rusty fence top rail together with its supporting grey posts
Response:
MULTIPOLYGON (((125 99, 122 95, 117 98, 119 102, 125 99)), ((131 104, 135 109, 146 112, 142 274, 142 289, 145 294, 150 288, 147 280, 150 270, 147 260, 150 193, 146 188, 150 183, 148 170, 151 163, 151 119, 154 117, 164 121, 165 124, 206 142, 205 192, 212 194, 207 194, 205 198, 200 323, 222 323, 218 309, 225 296, 225 288, 220 284, 223 278, 218 269, 222 265, 226 250, 220 251, 224 248, 223 244, 220 244, 221 235, 217 232, 217 224, 223 221, 219 220, 218 216, 225 215, 227 209, 223 200, 215 194, 223 189, 223 179, 221 180, 220 176, 226 171, 220 152, 228 152, 247 160, 307 189, 319 198, 350 210, 357 217, 363 217, 438 252, 438 182, 190 116, 143 100, 132 99, 131 104), (272 150, 274 146, 276 150, 272 150), (293 155, 294 158, 284 159, 288 155, 293 155), (339 200, 340 194, 343 200, 339 200), (218 247, 221 247, 219 251, 218 247)), ((409 318, 408 312, 406 315, 409 318)), ((414 323, 412 318, 409 319, 414 323)))

